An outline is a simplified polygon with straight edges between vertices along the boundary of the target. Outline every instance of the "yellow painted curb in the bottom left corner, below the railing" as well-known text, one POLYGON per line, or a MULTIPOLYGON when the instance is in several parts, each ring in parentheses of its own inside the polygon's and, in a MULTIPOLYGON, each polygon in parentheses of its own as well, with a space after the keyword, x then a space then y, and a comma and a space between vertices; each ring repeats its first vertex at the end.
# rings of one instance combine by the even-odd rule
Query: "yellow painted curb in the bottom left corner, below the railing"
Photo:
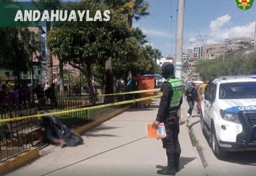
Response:
POLYGON ((38 147, 31 147, 29 151, 0 163, 0 176, 18 169, 39 157, 38 147))

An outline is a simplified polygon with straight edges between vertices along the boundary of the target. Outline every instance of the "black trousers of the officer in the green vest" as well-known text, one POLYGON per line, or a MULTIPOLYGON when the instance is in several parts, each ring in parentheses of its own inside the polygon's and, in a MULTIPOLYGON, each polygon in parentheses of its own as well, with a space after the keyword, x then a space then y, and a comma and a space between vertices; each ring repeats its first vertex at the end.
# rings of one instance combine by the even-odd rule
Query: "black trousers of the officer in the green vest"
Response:
POLYGON ((180 171, 180 124, 178 115, 170 115, 164 123, 166 138, 162 139, 163 147, 166 148, 168 158, 168 169, 180 171))

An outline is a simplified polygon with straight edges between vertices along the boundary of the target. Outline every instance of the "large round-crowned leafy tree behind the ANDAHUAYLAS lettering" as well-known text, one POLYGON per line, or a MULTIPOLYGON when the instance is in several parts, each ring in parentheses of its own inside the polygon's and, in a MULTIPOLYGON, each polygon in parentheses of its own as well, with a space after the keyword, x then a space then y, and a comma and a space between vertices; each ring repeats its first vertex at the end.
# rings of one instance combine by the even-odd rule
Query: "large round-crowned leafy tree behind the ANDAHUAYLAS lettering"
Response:
MULTIPOLYGON (((90 9, 91 14, 97 10, 108 10, 91 0, 67 3, 63 9, 90 9)), ((122 40, 131 35, 125 17, 113 11, 108 22, 56 22, 54 25, 48 36, 48 47, 64 63, 79 69, 86 76, 91 89, 93 64, 103 66, 109 57, 118 56, 122 40)))

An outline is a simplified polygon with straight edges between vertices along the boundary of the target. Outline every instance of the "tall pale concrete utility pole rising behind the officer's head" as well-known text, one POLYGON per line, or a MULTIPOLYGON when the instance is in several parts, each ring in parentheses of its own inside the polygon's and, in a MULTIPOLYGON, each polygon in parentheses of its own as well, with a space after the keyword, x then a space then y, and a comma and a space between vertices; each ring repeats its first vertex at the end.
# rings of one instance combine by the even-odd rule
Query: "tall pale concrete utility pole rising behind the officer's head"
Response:
POLYGON ((175 56, 175 76, 182 79, 182 52, 183 52, 183 25, 184 25, 185 0, 179 0, 176 22, 176 56, 175 56))

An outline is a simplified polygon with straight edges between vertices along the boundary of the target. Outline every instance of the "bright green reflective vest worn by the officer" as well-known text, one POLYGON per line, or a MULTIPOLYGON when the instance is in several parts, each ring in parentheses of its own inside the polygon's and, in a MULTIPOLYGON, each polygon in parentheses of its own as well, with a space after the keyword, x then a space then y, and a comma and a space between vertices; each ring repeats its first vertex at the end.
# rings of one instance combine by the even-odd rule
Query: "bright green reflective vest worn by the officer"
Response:
POLYGON ((170 107, 176 107, 180 105, 180 99, 183 94, 183 82, 180 79, 167 79, 167 81, 173 90, 173 95, 171 97, 171 104, 170 107))

